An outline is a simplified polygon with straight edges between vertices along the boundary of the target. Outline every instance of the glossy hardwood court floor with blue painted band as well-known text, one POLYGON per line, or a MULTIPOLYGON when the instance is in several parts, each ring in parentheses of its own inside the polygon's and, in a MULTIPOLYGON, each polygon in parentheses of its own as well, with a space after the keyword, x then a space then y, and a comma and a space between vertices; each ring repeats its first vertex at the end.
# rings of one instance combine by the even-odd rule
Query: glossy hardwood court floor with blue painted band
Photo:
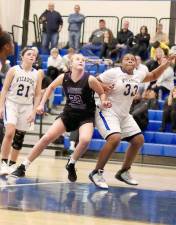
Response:
POLYGON ((139 185, 115 180, 120 164, 109 163, 105 178, 110 188, 89 182, 95 162, 77 163, 78 180, 67 180, 65 159, 40 157, 26 178, 8 185, 0 178, 1 225, 126 225, 176 224, 175 168, 134 165, 139 185))

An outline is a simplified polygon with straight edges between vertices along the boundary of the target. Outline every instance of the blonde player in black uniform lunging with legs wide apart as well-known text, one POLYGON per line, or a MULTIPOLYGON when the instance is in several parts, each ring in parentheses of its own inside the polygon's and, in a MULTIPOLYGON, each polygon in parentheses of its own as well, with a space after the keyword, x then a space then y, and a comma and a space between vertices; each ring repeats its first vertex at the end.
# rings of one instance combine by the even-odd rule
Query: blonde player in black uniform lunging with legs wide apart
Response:
POLYGON ((81 54, 75 54, 71 63, 71 72, 61 74, 49 85, 38 107, 38 113, 43 113, 44 104, 52 91, 58 85, 62 85, 67 99, 63 113, 36 143, 29 156, 11 176, 25 176, 25 171, 30 163, 41 154, 49 143, 65 131, 73 131, 79 128, 79 142, 66 165, 68 179, 72 182, 76 181, 75 162, 86 151, 94 130, 94 92, 99 95, 102 107, 109 108, 111 103, 106 99, 104 90, 98 80, 85 74, 85 58, 81 54))

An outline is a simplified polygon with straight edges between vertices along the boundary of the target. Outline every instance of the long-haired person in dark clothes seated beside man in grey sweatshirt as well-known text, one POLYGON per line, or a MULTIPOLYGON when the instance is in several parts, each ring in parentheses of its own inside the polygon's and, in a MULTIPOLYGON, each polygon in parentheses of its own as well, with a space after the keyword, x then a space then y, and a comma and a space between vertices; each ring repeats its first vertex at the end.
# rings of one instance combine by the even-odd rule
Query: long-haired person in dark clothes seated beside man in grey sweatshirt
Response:
POLYGON ((104 32, 104 42, 100 50, 100 58, 111 58, 111 51, 115 48, 117 40, 113 37, 112 32, 104 32))

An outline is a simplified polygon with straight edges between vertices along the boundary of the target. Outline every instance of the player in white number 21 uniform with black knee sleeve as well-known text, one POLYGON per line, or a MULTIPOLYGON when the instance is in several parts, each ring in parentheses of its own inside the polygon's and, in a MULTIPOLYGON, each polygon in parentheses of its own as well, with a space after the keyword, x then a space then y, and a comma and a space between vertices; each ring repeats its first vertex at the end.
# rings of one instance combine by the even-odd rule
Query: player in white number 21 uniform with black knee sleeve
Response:
POLYGON ((32 68, 35 52, 26 48, 21 55, 21 65, 8 71, 1 92, 0 118, 4 119, 5 136, 1 146, 0 175, 9 174, 15 169, 14 164, 8 165, 11 145, 16 150, 13 158, 17 159, 25 132, 34 122, 36 107, 40 102, 41 76, 32 68))

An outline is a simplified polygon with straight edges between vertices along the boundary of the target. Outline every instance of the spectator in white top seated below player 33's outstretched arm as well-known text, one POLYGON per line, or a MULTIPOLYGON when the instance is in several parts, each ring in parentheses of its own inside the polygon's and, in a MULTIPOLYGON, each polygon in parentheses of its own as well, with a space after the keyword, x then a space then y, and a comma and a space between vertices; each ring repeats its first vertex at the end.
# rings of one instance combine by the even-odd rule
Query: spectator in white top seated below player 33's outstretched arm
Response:
MULTIPOLYGON (((161 62, 165 62, 167 57, 164 56, 161 59, 161 62)), ((169 95, 170 91, 174 88, 174 70, 172 66, 169 66, 157 79, 153 90, 156 92, 159 99, 162 99, 163 96, 169 95), (160 96, 159 96, 160 93, 160 96)))

